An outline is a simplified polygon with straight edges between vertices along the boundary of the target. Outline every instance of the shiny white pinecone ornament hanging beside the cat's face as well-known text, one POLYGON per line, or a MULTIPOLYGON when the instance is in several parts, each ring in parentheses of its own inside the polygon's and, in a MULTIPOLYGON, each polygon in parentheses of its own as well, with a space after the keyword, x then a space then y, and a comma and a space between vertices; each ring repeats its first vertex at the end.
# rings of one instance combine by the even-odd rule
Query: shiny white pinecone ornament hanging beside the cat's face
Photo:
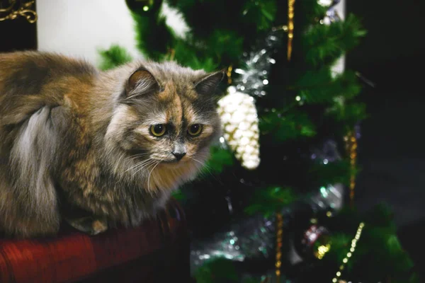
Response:
POLYGON ((229 86, 227 96, 218 101, 223 136, 237 160, 253 170, 260 163, 259 119, 254 98, 229 86))

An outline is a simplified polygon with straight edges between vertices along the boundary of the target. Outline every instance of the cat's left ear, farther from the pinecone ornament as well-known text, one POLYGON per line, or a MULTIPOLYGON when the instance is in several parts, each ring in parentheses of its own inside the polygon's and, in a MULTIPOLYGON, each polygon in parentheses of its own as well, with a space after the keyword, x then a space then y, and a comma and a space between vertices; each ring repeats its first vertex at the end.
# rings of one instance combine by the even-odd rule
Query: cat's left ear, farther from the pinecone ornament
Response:
POLYGON ((159 91, 159 88, 159 83, 155 77, 147 69, 141 68, 134 71, 128 78, 125 95, 126 98, 133 98, 159 91))

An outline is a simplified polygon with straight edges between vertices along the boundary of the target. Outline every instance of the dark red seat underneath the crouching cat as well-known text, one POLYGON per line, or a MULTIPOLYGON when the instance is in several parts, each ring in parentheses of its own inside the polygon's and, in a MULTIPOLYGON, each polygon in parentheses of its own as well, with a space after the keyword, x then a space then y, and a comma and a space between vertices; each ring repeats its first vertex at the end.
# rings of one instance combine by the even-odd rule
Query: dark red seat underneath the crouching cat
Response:
POLYGON ((87 236, 64 227, 55 238, 0 238, 0 282, 188 282, 188 257, 186 220, 173 201, 133 229, 87 236))

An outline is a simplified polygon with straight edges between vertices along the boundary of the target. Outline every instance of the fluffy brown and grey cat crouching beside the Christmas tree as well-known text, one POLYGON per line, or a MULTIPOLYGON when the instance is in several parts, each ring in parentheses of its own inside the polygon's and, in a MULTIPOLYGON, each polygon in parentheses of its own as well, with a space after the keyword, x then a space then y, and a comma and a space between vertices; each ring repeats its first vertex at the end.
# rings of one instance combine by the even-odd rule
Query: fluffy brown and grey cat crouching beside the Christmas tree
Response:
POLYGON ((196 176, 220 134, 224 73, 174 62, 101 72, 45 52, 0 54, 0 231, 135 226, 196 176))

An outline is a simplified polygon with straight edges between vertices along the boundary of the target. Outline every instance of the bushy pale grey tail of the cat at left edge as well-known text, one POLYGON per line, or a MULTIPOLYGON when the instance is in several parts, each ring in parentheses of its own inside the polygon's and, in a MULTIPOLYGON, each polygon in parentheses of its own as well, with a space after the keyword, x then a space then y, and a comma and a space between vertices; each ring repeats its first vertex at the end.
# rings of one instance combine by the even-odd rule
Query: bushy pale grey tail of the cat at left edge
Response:
POLYGON ((55 233, 60 216, 51 172, 58 137, 51 108, 40 108, 16 127, 8 132, 8 164, 0 165, 0 229, 17 236, 55 233))

